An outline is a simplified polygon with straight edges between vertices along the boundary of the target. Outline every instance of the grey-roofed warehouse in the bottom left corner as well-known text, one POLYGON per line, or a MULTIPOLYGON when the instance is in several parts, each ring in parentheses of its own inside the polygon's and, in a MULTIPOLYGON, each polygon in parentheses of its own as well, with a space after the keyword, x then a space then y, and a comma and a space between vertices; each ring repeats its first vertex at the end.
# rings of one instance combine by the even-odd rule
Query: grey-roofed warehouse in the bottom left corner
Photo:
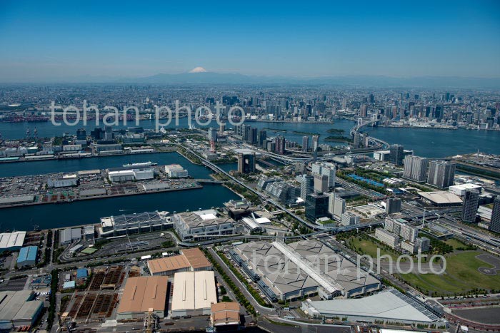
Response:
POLYGON ((32 290, 0 292, 0 324, 31 326, 39 318, 44 302, 34 300, 32 290))

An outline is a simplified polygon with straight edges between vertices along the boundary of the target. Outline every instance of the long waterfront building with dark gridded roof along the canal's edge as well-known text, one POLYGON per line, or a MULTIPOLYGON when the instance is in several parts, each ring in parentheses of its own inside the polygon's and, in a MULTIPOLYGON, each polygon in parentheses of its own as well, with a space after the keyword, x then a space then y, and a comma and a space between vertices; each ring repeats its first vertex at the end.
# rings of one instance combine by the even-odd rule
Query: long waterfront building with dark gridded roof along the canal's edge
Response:
POLYGON ((171 229, 173 224, 169 212, 140 212, 118 216, 101 217, 101 226, 97 228, 99 237, 134 235, 171 229))

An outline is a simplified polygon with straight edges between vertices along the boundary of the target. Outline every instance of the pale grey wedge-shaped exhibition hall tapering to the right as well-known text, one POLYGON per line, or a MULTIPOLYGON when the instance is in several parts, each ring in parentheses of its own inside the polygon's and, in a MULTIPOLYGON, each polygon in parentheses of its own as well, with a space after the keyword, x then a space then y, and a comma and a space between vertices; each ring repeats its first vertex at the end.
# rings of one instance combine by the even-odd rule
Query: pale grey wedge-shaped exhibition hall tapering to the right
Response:
POLYGON ((362 299, 307 300, 302 302, 302 310, 311 317, 341 317, 349 322, 416 325, 439 320, 424 304, 397 290, 386 290, 362 299))

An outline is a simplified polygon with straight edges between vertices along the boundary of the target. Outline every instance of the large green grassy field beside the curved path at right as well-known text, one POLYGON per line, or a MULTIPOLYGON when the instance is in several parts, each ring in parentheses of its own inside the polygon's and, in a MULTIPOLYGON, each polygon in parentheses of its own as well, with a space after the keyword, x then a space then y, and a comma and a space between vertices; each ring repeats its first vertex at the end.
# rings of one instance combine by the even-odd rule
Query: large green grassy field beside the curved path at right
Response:
POLYGON ((419 287, 424 293, 436 292, 438 295, 453 295, 479 289, 498 289, 500 275, 484 275, 477 269, 491 265, 476 259, 481 251, 454 252, 446 255, 446 273, 444 275, 399 275, 409 285, 419 287))

